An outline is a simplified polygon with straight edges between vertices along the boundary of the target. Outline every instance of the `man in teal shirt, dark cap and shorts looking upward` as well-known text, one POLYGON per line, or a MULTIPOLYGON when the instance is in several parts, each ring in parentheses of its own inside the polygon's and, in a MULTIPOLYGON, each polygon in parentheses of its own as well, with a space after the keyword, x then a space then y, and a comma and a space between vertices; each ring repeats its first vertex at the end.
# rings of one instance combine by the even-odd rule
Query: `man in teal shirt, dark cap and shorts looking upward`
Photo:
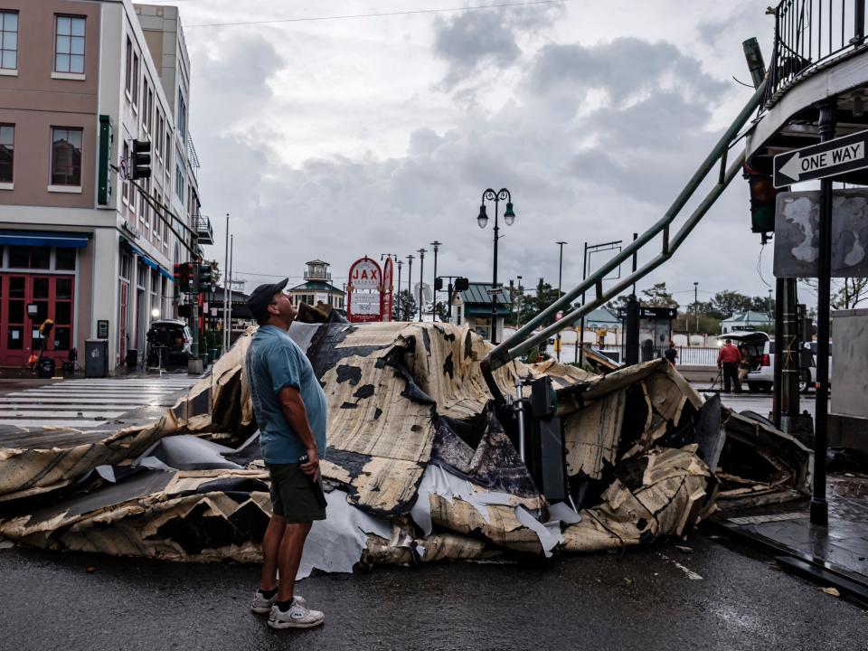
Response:
POLYGON ((307 628, 325 619, 294 596, 294 588, 307 533, 314 520, 325 520, 319 459, 325 454, 328 410, 307 355, 288 335, 297 311, 283 293, 287 283, 284 278, 260 285, 247 301, 259 330, 245 366, 262 458, 271 477, 272 512, 251 609, 268 612, 270 627, 307 628))

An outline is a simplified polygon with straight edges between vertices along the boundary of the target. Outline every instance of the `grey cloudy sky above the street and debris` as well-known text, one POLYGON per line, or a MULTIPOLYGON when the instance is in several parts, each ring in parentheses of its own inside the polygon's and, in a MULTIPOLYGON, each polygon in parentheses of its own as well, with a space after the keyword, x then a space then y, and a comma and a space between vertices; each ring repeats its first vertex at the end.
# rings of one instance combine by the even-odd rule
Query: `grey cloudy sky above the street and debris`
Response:
MULTIPOLYGON (((476 225, 487 187, 508 188, 517 214, 498 278, 556 285, 561 240, 571 287, 586 241, 628 241, 663 214, 750 98, 733 80, 750 81, 741 42, 756 36, 768 61, 774 27, 768 3, 746 0, 166 4, 193 61, 203 212, 220 242, 206 255, 222 263, 231 213, 248 290, 300 281, 314 258, 341 287, 354 259, 382 253, 417 255, 418 280, 420 248, 430 282, 435 240, 440 274, 490 280, 491 223, 476 225)), ((693 281, 701 298, 766 296, 770 269, 737 178, 639 288, 665 281, 682 303, 693 281)))

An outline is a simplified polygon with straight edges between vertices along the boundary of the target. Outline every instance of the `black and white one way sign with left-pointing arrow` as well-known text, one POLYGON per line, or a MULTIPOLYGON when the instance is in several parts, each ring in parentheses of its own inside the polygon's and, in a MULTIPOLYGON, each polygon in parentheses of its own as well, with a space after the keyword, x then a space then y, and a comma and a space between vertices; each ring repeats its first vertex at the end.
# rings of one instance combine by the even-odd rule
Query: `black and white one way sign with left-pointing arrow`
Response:
POLYGON ((775 187, 836 176, 868 167, 868 131, 775 156, 775 187))

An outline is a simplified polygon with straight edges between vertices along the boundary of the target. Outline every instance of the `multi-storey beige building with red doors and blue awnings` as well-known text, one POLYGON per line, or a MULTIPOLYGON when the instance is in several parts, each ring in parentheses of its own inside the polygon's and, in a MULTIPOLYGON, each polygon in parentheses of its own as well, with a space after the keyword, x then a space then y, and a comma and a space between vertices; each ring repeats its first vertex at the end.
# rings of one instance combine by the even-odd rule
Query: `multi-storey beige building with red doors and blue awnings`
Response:
POLYGON ((60 366, 104 338, 112 370, 175 316, 173 266, 190 253, 125 172, 133 141, 150 142, 137 183, 176 231, 210 232, 189 90, 175 7, 0 0, 0 365, 43 349, 60 366))

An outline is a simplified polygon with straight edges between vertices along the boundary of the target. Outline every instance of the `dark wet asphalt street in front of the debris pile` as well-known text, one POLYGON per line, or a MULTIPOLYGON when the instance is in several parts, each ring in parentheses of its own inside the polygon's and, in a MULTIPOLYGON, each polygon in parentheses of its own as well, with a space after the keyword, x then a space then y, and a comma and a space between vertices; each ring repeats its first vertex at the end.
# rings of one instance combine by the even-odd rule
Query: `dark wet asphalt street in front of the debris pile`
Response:
POLYGON ((0 551, 0 648, 865 648, 866 611, 747 550, 703 534, 689 544, 313 577, 297 592, 325 626, 307 631, 250 613, 254 566, 14 548, 0 551))

